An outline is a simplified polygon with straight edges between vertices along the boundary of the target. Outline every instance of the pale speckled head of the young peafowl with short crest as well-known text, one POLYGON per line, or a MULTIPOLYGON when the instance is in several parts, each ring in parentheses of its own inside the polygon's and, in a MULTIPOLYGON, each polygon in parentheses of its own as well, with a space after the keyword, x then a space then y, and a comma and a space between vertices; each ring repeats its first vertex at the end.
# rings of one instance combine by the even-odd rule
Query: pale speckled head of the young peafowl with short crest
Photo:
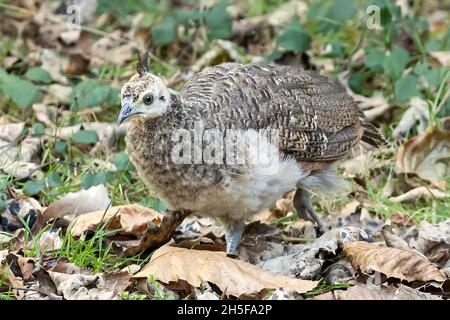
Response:
POLYGON ((148 69, 148 53, 137 51, 137 73, 122 87, 121 105, 117 123, 120 125, 132 117, 157 118, 164 114, 170 105, 170 91, 164 81, 152 75, 148 69))

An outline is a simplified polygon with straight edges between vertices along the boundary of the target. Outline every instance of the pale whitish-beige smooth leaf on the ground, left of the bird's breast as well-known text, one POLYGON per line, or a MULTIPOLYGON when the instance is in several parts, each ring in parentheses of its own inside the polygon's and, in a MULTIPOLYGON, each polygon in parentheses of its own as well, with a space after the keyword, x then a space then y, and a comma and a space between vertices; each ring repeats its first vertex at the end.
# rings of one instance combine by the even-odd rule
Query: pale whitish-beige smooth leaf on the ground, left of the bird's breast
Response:
POLYGON ((68 215, 79 216, 88 212, 104 211, 110 203, 108 192, 105 186, 101 184, 87 190, 67 193, 61 199, 49 205, 43 216, 46 220, 68 215))

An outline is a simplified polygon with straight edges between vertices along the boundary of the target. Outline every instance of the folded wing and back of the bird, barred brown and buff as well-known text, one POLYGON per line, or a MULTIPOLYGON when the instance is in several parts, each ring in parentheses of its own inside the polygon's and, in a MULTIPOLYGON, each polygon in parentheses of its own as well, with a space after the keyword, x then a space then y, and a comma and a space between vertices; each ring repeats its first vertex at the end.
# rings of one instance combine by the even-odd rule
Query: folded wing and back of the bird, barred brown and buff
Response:
POLYGON ((356 102, 333 80, 290 66, 225 63, 181 90, 211 125, 277 129, 280 150, 299 161, 334 161, 363 135, 356 102))

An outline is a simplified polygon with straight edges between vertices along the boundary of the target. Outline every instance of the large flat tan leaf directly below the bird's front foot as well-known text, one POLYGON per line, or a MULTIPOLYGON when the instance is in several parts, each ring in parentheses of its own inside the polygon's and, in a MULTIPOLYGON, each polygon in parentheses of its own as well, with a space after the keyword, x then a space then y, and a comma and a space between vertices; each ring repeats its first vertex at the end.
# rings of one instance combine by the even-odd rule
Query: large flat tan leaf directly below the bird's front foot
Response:
POLYGON ((262 270, 250 263, 226 257, 224 252, 188 250, 163 246, 133 279, 154 275, 163 283, 185 280, 194 287, 215 284, 227 296, 254 295, 264 289, 284 288, 304 293, 317 281, 289 278, 262 270))

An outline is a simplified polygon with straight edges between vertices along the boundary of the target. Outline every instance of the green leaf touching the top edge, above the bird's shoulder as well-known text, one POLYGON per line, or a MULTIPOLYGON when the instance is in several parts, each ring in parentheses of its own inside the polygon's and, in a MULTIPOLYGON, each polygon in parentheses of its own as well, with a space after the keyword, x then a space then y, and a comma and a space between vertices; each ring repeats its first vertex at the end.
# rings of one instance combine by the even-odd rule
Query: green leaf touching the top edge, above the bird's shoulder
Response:
POLYGON ((204 13, 208 29, 208 39, 228 39, 232 34, 232 19, 227 12, 228 1, 220 1, 210 11, 204 13))

